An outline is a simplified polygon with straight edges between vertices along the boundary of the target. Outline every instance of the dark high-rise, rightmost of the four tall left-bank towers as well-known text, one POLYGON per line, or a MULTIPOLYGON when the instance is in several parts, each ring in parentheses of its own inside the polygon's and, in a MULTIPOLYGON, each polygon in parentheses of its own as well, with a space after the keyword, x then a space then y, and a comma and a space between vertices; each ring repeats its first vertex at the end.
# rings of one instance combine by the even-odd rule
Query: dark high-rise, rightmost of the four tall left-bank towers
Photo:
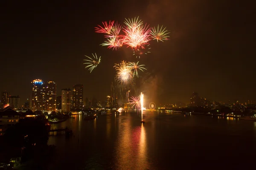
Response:
POLYGON ((72 109, 81 110, 83 109, 83 85, 77 84, 73 86, 73 96, 72 96, 72 109))

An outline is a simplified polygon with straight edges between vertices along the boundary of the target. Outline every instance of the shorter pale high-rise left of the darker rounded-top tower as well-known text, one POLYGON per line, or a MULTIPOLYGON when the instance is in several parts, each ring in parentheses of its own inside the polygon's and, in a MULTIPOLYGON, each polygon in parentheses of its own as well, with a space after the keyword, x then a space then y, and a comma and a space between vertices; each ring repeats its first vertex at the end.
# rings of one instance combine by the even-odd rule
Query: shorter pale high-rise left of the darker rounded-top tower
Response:
POLYGON ((70 88, 62 89, 61 90, 61 112, 62 113, 70 112, 71 102, 72 102, 72 95, 71 95, 70 88))

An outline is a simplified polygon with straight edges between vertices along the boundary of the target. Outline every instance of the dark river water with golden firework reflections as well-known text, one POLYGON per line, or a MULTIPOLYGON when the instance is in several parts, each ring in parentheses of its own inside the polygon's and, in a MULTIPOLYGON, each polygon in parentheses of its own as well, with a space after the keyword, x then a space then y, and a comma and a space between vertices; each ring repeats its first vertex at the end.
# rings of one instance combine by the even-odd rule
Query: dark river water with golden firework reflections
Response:
POLYGON ((57 146, 50 169, 227 170, 253 167, 256 159, 251 121, 157 112, 146 112, 143 125, 137 113, 83 117, 52 125, 71 127, 75 136, 49 137, 57 146))

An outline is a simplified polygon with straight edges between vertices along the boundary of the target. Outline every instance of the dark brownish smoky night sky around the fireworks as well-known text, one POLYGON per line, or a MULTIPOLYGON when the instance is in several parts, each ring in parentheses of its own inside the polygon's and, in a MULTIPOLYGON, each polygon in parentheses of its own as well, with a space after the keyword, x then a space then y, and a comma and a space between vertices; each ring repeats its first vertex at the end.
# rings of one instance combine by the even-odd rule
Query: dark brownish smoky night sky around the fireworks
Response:
POLYGON ((256 101, 253 4, 239 0, 128 0, 0 2, 0 91, 29 98, 31 81, 43 79, 62 88, 84 84, 84 97, 110 95, 114 63, 133 61, 131 48, 100 46, 94 32, 102 21, 140 16, 150 26, 164 25, 170 40, 151 41, 151 54, 141 57, 137 91, 148 101, 189 102, 196 91, 207 99, 256 101), (57 3, 58 2, 58 3, 57 3), (61 3, 59 3, 61 2, 61 3), (90 74, 84 55, 96 53, 101 63, 90 74))

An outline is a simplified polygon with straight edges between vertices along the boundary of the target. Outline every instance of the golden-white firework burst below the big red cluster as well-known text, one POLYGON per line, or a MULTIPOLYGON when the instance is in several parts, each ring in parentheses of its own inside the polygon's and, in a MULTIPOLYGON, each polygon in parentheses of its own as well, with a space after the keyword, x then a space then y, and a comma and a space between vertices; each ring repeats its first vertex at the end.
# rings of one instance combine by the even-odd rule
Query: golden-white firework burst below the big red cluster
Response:
POLYGON ((116 79, 121 83, 131 83, 133 80, 132 68, 131 66, 122 61, 119 64, 115 64, 114 68, 116 69, 116 79))

